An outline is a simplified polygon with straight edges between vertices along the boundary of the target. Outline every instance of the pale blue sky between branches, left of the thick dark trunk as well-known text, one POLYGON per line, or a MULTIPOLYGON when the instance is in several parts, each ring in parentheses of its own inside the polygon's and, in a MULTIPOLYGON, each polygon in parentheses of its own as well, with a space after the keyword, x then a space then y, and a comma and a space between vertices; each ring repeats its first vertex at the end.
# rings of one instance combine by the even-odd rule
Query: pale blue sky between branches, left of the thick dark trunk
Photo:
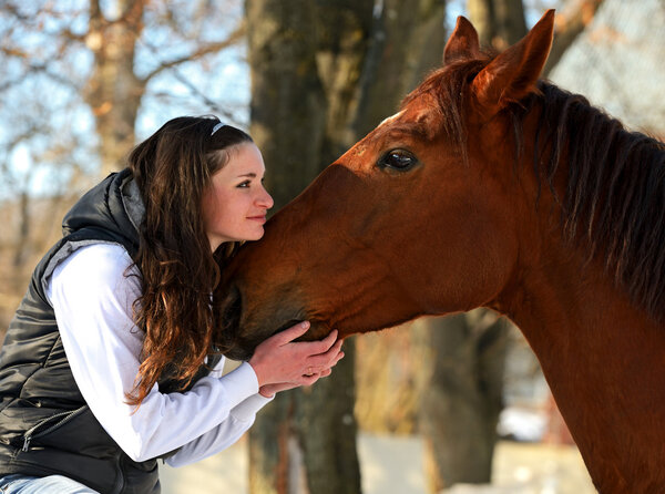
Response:
MULTIPOLYGON (((66 62, 63 63, 58 60, 61 49, 52 41, 52 34, 60 32, 63 25, 75 34, 86 32, 86 0, 10 1, 19 6, 24 19, 17 22, 3 14, 0 8, 0 30, 4 35, 0 37, 0 42, 3 48, 9 47, 7 33, 11 33, 12 44, 30 54, 29 63, 47 65, 51 75, 31 70, 20 58, 3 59, 0 73, 0 166, 4 169, 0 200, 13 198, 24 189, 32 195, 60 192, 62 184, 69 182, 71 167, 66 165, 71 161, 91 175, 99 169, 94 117, 81 91, 92 68, 92 53, 84 45, 68 49, 66 62), (39 9, 44 6, 51 6, 53 13, 39 16, 39 9), (75 11, 82 13, 73 16, 75 11), (28 137, 17 146, 9 146, 21 135, 28 137), (55 138, 47 138, 50 135, 55 135, 55 138), (11 147, 10 152, 8 147, 11 147)), ((172 3, 187 9, 195 2, 174 0, 172 3)), ((224 0, 223 3, 231 7, 219 11, 219 18, 193 28, 197 29, 200 39, 224 39, 226 32, 236 27, 243 1, 224 0)), ((102 1, 108 19, 116 16, 111 8, 113 4, 113 1, 102 1)), ((152 4, 158 6, 160 2, 152 4)), ((222 4, 221 0, 218 4, 222 4)), ((173 32, 156 25, 155 21, 147 19, 137 48, 135 72, 140 76, 160 62, 191 50, 173 32)), ((168 119, 183 114, 226 113, 231 114, 232 122, 246 126, 249 75, 245 59, 245 47, 241 45, 224 50, 219 55, 208 55, 204 63, 183 63, 151 80, 136 121, 137 138, 147 137, 168 119)), ((226 120, 229 117, 226 116, 226 120)))

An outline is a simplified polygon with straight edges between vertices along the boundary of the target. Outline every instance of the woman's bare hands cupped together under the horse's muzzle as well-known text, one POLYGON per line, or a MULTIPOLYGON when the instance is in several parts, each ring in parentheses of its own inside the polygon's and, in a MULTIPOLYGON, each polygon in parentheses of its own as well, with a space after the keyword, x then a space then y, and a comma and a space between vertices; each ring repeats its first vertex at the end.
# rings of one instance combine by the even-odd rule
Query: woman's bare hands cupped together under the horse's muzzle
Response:
POLYGON ((344 357, 337 330, 319 341, 294 342, 305 335, 309 322, 300 322, 260 343, 249 364, 258 379, 259 392, 269 397, 299 385, 310 385, 330 375, 330 369, 344 357))

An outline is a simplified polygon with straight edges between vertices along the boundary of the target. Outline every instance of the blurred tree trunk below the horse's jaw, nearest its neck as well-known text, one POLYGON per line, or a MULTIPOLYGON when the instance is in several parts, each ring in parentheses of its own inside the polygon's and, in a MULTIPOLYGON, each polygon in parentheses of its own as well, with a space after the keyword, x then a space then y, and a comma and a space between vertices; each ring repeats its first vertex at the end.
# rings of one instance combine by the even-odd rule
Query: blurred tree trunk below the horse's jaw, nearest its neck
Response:
POLYGON ((429 490, 488 483, 503 408, 507 323, 477 309, 415 326, 415 348, 424 356, 419 426, 429 490))

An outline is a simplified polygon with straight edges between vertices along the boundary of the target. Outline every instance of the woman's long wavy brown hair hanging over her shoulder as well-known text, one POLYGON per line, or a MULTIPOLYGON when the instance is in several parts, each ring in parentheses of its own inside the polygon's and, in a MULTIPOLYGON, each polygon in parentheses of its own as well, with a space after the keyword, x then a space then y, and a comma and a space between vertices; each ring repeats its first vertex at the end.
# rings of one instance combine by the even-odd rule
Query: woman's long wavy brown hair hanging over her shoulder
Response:
POLYGON ((202 196, 233 146, 252 137, 213 117, 168 121, 131 153, 129 166, 145 203, 140 247, 134 259, 142 295, 134 319, 145 331, 141 368, 127 402, 140 405, 157 380, 184 390, 212 352, 217 326, 212 294, 219 266, 234 245, 211 253, 202 216, 202 196))

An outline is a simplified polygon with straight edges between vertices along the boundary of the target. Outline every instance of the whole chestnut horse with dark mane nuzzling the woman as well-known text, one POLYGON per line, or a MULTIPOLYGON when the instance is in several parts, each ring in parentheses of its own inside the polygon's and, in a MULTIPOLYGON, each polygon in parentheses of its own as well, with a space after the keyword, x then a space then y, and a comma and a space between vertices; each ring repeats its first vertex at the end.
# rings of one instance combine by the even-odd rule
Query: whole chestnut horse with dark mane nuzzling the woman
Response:
POLYGON ((548 11, 443 65, 225 267, 227 354, 478 307, 535 352, 601 493, 665 492, 665 146, 540 80, 548 11))

